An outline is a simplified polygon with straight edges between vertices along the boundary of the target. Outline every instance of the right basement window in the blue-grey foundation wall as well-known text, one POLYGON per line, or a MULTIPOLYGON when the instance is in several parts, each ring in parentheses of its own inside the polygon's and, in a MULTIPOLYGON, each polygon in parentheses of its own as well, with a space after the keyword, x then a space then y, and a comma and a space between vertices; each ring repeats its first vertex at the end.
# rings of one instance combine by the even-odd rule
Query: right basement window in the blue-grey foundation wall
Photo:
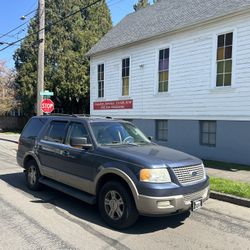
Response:
POLYGON ((200 122, 201 145, 216 146, 216 121, 200 122))

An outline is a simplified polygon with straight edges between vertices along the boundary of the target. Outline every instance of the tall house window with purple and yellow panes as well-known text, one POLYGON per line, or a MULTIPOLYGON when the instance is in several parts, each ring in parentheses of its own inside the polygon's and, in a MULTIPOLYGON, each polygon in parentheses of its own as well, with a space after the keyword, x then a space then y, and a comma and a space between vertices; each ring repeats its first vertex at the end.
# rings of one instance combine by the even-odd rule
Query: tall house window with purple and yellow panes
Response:
POLYGON ((168 91, 168 79, 169 79, 169 49, 162 49, 159 51, 159 81, 158 91, 168 91))

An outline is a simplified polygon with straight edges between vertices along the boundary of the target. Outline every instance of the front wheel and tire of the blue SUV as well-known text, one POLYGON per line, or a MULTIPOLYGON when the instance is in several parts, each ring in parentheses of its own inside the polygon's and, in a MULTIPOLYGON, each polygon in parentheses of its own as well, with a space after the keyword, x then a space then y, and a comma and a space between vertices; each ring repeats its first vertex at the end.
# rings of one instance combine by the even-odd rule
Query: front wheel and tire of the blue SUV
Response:
POLYGON ((128 228, 138 219, 132 195, 117 181, 103 185, 98 196, 98 207, 103 220, 115 229, 128 228))

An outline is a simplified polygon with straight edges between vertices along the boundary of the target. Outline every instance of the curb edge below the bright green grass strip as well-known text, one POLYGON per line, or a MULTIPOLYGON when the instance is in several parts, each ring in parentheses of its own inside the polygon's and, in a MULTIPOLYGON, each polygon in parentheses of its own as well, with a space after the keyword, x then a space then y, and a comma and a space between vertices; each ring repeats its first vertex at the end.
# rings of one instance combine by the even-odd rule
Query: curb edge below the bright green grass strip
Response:
POLYGON ((240 198, 234 195, 223 194, 215 191, 210 192, 210 198, 250 208, 250 199, 240 198))

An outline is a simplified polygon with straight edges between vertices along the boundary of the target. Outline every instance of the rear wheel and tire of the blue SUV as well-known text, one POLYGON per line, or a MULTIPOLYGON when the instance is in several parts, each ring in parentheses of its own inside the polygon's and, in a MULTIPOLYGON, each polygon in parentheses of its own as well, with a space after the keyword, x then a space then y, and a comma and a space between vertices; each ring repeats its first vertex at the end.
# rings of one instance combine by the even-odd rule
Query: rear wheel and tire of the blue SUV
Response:
POLYGON ((31 160, 27 163, 25 174, 27 187, 34 191, 40 190, 42 186, 39 182, 41 173, 35 160, 31 160))

